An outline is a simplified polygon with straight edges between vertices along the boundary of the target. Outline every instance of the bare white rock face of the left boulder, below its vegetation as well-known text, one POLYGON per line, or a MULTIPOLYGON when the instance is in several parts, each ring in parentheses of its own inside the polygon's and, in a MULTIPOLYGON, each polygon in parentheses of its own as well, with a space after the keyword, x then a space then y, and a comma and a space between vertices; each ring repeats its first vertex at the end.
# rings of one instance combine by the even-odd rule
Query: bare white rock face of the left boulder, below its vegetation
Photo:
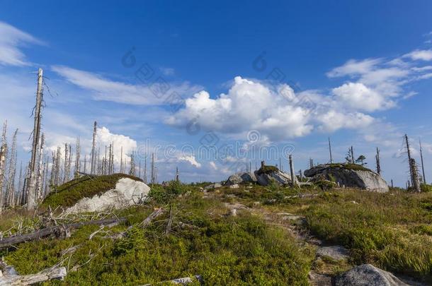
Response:
POLYGON ((109 208, 127 208, 144 201, 149 191, 149 186, 142 181, 122 178, 115 184, 115 189, 95 195, 93 198, 81 198, 74 206, 67 208, 66 213, 88 213, 109 208))

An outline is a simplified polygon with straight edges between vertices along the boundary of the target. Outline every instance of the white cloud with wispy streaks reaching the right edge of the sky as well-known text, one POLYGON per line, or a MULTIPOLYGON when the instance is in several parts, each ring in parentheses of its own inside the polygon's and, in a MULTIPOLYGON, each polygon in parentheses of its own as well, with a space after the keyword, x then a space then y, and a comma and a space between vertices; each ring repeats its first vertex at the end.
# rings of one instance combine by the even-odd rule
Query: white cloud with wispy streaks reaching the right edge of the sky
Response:
MULTIPOLYGON (((415 66, 409 59, 426 59, 426 52, 416 50, 395 59, 350 59, 326 73, 330 78, 348 77, 348 83, 333 88, 332 93, 351 109, 365 112, 390 109, 399 100, 407 100, 412 91, 407 83, 431 78, 432 66, 415 66)), ((431 54, 432 56, 432 54, 431 54)))

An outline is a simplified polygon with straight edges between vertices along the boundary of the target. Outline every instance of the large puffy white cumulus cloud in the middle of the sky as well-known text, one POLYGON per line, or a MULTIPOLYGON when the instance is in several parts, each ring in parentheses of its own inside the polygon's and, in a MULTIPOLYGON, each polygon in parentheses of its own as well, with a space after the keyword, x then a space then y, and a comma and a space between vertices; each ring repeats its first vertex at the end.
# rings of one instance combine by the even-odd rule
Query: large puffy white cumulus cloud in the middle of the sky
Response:
POLYGON ((258 131, 264 141, 306 136, 314 129, 366 126, 373 118, 360 112, 336 112, 331 97, 295 95, 288 85, 272 86, 237 76, 227 94, 212 99, 206 91, 186 100, 185 108, 166 119, 173 126, 195 122, 209 131, 242 135, 258 131))

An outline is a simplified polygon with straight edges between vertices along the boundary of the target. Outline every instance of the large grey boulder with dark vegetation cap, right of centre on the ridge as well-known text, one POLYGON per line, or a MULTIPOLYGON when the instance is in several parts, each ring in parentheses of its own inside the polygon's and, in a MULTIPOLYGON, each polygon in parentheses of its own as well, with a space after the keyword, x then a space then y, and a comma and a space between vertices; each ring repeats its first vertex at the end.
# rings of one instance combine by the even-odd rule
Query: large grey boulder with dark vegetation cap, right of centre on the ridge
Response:
POLYGON ((360 165, 329 164, 319 165, 304 172, 306 177, 312 177, 313 181, 329 180, 340 186, 365 189, 385 193, 389 191, 387 182, 380 174, 366 169, 360 165))

